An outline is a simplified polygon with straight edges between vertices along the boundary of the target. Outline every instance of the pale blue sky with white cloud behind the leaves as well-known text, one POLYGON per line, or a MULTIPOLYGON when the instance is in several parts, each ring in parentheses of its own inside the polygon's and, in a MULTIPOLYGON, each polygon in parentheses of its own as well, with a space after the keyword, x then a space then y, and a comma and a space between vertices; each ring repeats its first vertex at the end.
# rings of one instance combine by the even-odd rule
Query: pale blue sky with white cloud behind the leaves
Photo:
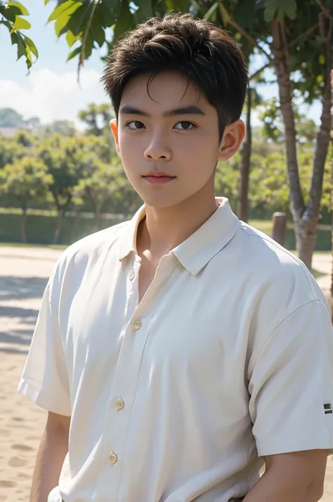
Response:
MULTIPOLYGON (((94 50, 81 70, 80 85, 77 83, 77 58, 66 62, 68 49, 65 37, 57 39, 54 22, 47 23, 48 16, 55 6, 50 1, 44 6, 44 0, 20 0, 30 12, 30 30, 22 30, 37 46, 39 59, 27 75, 25 58, 16 61, 16 46, 11 46, 11 39, 6 27, 0 25, 0 108, 14 108, 24 119, 39 117, 42 123, 53 120, 72 120, 81 129, 83 124, 77 119, 79 110, 89 103, 107 103, 100 76, 103 62, 100 51, 94 50)), ((103 54, 104 55, 104 54, 103 54)), ((261 58, 256 58, 254 67, 261 65, 261 58)), ((264 100, 278 97, 275 84, 261 86, 260 94, 264 100)), ((320 103, 311 108, 303 108, 308 117, 316 123, 320 120, 320 103)), ((254 114, 254 125, 259 124, 254 114)))

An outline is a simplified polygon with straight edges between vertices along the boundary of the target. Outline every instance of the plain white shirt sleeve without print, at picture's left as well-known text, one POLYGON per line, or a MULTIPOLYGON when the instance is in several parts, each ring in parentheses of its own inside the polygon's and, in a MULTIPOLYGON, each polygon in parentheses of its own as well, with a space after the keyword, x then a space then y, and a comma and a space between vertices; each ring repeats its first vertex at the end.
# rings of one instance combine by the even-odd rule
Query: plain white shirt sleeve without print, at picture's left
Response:
POLYGON ((41 408, 70 416, 70 386, 58 318, 46 285, 18 392, 41 408))

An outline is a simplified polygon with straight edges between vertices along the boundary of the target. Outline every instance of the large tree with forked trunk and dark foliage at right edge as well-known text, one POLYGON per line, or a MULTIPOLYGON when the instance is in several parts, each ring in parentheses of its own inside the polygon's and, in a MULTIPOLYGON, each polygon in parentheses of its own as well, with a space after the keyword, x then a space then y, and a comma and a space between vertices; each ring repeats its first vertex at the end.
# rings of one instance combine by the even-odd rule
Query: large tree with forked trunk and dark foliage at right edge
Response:
MULTIPOLYGON (((319 217, 320 198, 322 195, 322 179, 329 142, 329 70, 332 65, 332 17, 329 13, 329 1, 311 0, 257 0, 230 1, 228 4, 217 1, 224 23, 236 28, 244 38, 267 59, 267 65, 275 70, 278 82, 280 110, 284 129, 284 140, 287 155, 287 173, 291 199, 292 216, 296 231, 296 243, 299 257, 311 268, 311 259, 315 248, 316 229, 319 217), (227 6, 227 7, 226 7, 227 6), (236 8, 242 7, 248 16, 263 13, 262 32, 251 32, 237 22, 236 8), (258 10, 255 11, 255 8, 258 10), (296 16, 297 13, 297 16, 296 16), (311 44, 313 33, 319 37, 311 44), (310 44, 310 46, 309 46, 310 44), (311 50, 310 50, 311 49, 311 50), (295 56, 297 55, 297 56, 295 56), (300 60, 302 64, 299 65, 300 60), (315 65, 313 61, 322 60, 315 65), (308 65, 308 61, 310 61, 308 65), (296 149, 296 127, 294 115, 294 72, 306 75, 308 67, 312 68, 311 83, 317 89, 317 96, 322 101, 322 117, 318 131, 315 156, 313 159, 313 176, 311 191, 307 202, 301 192, 299 181, 299 165, 296 149), (314 82, 320 82, 316 85, 314 82)), ((295 79, 297 80, 297 79, 295 79)), ((311 101, 315 94, 308 93, 311 101)))

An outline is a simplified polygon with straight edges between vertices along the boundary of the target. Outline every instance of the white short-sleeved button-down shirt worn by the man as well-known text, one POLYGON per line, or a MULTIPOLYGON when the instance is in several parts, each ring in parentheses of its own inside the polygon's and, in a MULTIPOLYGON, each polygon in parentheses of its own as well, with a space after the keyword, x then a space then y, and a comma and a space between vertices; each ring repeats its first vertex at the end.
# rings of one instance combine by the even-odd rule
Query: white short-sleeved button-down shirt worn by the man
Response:
POLYGON ((19 391, 72 417, 59 496, 228 502, 260 456, 332 449, 332 324, 306 267, 224 199, 138 304, 143 216, 70 246, 46 287, 19 391))

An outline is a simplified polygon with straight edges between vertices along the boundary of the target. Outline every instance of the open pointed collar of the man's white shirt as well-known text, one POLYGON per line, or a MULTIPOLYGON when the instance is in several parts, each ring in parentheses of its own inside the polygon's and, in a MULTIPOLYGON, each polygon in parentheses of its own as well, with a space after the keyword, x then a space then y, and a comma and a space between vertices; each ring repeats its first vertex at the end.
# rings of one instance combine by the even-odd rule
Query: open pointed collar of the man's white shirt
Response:
MULTIPOLYGON (((240 220, 231 210, 228 199, 223 197, 216 200, 219 203, 216 212, 200 226, 200 229, 172 251, 185 269, 194 276, 230 242, 241 225, 240 220)), ((144 217, 145 206, 143 205, 126 226, 121 238, 119 260, 130 252, 136 251, 136 233, 144 217)))

